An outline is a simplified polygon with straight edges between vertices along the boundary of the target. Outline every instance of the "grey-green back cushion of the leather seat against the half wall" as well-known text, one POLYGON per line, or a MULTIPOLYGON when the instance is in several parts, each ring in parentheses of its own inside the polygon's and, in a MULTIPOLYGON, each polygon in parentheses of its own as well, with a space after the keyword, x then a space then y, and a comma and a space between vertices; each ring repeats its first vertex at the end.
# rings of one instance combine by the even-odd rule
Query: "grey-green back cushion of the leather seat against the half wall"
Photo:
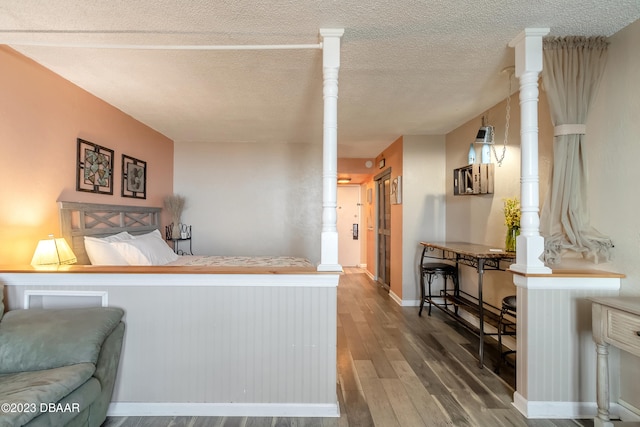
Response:
POLYGON ((115 307, 11 310, 0 321, 0 374, 95 365, 123 314, 115 307))

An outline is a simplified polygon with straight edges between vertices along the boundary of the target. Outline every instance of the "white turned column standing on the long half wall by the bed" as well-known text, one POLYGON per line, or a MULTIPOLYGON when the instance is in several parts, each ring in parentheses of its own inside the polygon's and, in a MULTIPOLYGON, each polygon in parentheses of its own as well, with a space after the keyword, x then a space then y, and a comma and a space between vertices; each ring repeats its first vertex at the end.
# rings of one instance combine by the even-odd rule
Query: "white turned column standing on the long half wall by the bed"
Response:
POLYGON ((342 271, 338 264, 338 71, 344 29, 320 29, 324 78, 322 157, 322 233, 318 271, 342 271))

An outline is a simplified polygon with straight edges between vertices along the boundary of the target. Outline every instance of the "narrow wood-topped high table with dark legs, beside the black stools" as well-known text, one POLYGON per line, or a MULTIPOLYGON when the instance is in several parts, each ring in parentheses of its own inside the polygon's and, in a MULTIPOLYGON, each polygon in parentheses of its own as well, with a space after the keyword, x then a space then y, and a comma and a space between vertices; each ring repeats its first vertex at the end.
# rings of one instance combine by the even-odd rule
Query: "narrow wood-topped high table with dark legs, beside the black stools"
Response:
MULTIPOLYGON (((480 367, 484 366, 484 301, 482 299, 483 275, 485 270, 504 270, 501 268, 501 261, 513 261, 514 252, 505 252, 487 245, 477 245, 465 242, 420 242, 423 246, 420 263, 424 263, 426 258, 438 258, 455 261, 456 268, 460 264, 473 267, 478 272, 478 335, 480 345, 478 347, 478 357, 480 367)), ((438 306, 437 304, 435 304, 438 306)), ((439 307, 442 308, 442 307, 439 307)))

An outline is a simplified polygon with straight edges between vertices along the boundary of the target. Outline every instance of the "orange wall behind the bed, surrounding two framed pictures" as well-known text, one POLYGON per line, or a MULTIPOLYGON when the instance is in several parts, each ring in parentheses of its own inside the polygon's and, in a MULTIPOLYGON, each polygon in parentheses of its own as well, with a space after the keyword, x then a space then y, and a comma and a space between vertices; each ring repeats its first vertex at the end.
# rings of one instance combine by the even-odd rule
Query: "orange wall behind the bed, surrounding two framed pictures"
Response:
POLYGON ((8 47, 0 47, 0 264, 28 264, 60 233, 58 201, 162 206, 173 141, 8 47), (113 195, 76 191, 76 139, 114 150, 113 195), (147 162, 147 198, 120 196, 122 154, 147 162))

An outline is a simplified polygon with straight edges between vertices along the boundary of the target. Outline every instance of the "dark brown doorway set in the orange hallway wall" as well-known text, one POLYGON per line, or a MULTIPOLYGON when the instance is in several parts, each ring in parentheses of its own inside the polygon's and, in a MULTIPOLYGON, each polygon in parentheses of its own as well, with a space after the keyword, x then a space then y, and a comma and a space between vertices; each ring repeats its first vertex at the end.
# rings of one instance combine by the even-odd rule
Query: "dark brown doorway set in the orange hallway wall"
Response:
POLYGON ((391 169, 375 177, 378 217, 378 283, 391 288, 391 169))

